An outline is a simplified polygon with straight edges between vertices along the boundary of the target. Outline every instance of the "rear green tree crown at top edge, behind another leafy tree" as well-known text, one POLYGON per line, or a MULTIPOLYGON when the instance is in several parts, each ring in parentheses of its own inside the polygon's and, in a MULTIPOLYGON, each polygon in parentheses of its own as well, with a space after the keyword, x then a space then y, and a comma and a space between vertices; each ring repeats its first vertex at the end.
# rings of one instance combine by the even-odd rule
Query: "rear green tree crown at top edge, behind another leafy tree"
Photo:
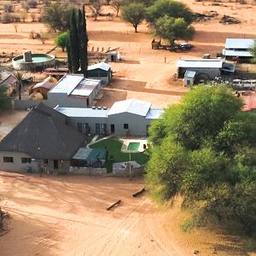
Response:
POLYGON ((157 0, 148 7, 146 20, 154 26, 155 20, 165 15, 173 18, 183 18, 189 25, 193 21, 192 11, 184 4, 172 0, 157 0))

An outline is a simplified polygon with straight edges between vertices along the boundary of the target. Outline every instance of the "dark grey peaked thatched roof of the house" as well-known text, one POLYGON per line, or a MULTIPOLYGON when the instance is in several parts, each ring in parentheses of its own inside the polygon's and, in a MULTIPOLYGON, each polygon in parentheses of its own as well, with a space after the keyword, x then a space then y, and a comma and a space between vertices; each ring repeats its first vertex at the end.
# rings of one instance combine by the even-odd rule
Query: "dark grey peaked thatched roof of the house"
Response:
POLYGON ((18 151, 35 159, 71 160, 84 135, 66 124, 66 117, 40 103, 3 138, 1 151, 18 151))

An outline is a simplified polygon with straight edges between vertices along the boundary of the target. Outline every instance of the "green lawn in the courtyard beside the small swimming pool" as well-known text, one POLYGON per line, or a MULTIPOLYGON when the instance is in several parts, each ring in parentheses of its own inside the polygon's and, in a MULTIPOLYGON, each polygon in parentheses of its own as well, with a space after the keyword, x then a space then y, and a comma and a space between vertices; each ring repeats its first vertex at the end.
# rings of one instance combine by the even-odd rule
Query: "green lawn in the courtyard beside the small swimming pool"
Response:
MULTIPOLYGON (((129 153, 121 152, 123 142, 116 138, 108 138, 99 143, 90 145, 90 148, 107 148, 108 149, 108 160, 106 161, 105 167, 108 172, 112 172, 113 163, 127 162, 129 161, 129 153)), ((137 161, 138 164, 144 165, 148 162, 148 154, 146 152, 131 153, 131 160, 137 161)))

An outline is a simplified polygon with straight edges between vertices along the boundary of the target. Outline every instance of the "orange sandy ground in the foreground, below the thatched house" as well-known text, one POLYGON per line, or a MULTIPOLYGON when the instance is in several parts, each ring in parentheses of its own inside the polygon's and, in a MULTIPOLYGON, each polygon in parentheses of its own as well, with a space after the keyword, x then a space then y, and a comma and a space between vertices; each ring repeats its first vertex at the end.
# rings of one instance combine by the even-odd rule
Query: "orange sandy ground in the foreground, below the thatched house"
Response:
MULTIPOLYGON (((160 210, 148 194, 133 198, 142 179, 38 177, 0 172, 1 206, 9 232, 1 252, 13 255, 253 255, 234 238, 194 230, 183 233, 180 201, 160 210), (119 207, 106 211, 114 201, 119 207), (204 241, 201 242, 201 237, 204 241), (218 236, 218 239, 216 239, 218 236)), ((255 255, 255 254, 254 254, 255 255)))

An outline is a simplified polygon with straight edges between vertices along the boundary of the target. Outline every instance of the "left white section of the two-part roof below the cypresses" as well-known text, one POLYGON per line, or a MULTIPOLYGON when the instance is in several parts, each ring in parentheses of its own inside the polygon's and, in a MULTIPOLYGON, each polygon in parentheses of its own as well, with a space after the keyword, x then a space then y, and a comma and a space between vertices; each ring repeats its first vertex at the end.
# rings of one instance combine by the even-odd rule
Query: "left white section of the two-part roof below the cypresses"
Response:
POLYGON ((55 86, 49 90, 49 93, 70 93, 84 79, 83 74, 67 74, 55 86))

